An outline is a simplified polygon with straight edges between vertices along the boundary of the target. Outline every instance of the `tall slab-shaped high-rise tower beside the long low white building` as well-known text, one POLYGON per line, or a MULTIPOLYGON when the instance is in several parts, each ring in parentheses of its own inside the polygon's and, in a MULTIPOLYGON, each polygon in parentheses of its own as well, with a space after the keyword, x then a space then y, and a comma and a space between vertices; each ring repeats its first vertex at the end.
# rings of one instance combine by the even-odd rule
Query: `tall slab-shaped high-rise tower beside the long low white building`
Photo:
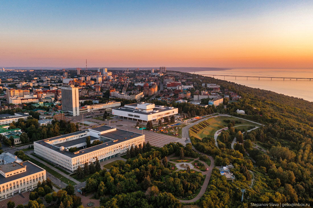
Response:
POLYGON ((61 87, 62 110, 68 111, 71 116, 79 116, 78 87, 63 85, 61 87))

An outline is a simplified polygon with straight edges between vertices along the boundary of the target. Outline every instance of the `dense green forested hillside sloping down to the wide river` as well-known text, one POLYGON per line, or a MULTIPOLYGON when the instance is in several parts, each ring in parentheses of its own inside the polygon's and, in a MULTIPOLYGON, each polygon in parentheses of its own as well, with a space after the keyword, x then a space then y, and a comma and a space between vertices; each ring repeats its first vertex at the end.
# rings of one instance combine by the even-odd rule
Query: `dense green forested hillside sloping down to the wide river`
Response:
POLYGON ((258 121, 264 126, 244 134, 244 143, 228 149, 237 132, 225 132, 225 146, 218 149, 214 138, 192 138, 199 151, 215 158, 215 165, 232 163, 236 180, 232 183, 214 169, 206 194, 198 205, 203 207, 247 207, 250 201, 312 201, 313 198, 313 103, 275 92, 254 89, 211 77, 199 77, 202 83, 216 83, 242 97, 227 104, 226 112, 258 121), (247 115, 238 115, 236 110, 247 115), (253 148, 262 147, 265 152, 253 148), (240 150, 240 151, 236 151, 240 150), (256 161, 250 160, 249 155, 256 161), (254 166, 253 166, 254 165, 254 166), (251 172, 250 172, 251 171, 251 172), (253 172, 253 175, 252 175, 253 172), (253 178, 253 185, 251 179, 253 178), (244 203, 240 189, 246 189, 244 203))

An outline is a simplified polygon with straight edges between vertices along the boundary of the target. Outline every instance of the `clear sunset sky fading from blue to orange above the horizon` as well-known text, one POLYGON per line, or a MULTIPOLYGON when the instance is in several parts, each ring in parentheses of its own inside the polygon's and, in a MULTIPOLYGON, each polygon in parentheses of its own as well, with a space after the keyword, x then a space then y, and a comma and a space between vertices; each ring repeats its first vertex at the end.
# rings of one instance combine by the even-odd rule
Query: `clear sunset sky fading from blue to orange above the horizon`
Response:
POLYGON ((0 1, 0 67, 313 67, 313 1, 0 1))

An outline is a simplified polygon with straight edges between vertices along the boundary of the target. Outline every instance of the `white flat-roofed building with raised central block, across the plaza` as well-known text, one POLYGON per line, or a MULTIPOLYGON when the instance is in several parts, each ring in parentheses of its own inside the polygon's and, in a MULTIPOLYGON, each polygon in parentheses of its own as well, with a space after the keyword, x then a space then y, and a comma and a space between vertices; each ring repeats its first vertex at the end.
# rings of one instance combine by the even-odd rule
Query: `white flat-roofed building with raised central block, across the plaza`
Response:
POLYGON ((157 121, 165 116, 178 113, 178 108, 156 106, 153 103, 138 102, 112 109, 112 114, 123 118, 131 118, 142 121, 157 121))

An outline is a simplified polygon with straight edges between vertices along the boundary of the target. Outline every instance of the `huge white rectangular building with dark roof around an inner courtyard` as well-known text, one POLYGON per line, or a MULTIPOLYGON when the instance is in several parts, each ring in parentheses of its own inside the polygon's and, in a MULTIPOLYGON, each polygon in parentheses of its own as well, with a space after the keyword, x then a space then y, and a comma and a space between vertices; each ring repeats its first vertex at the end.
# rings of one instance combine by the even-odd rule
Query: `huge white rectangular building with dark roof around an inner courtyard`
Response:
POLYGON ((145 135, 131 131, 116 129, 109 126, 98 126, 84 131, 56 136, 49 139, 35 141, 34 153, 66 168, 75 171, 78 166, 83 167, 85 162, 94 163, 96 158, 104 161, 115 156, 125 154, 131 145, 139 146, 145 141, 145 135), (103 144, 86 148, 86 138, 90 142, 103 141, 103 144), (76 152, 69 152, 69 148, 77 147, 76 152))

